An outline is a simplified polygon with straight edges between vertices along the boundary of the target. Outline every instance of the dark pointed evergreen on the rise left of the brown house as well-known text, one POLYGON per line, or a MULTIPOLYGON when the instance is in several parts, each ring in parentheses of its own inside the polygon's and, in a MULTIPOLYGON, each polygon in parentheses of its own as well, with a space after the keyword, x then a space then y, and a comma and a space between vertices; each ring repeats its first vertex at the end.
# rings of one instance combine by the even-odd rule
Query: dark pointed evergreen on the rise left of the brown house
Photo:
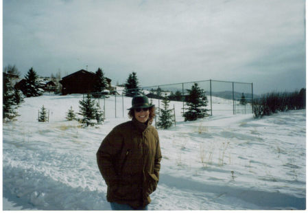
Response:
POLYGON ((23 94, 27 97, 41 96, 43 91, 38 87, 38 75, 31 67, 25 76, 25 88, 23 94))

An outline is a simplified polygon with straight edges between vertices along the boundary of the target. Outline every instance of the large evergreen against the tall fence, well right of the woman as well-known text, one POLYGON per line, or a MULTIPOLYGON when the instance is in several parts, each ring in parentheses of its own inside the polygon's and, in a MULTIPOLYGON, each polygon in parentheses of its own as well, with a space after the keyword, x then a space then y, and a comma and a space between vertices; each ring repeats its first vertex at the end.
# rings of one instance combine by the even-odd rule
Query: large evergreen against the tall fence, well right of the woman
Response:
POLYGON ((208 116, 207 111, 209 110, 205 109, 208 103, 205 91, 200 89, 198 83, 194 83, 191 89, 187 89, 187 91, 189 92, 186 100, 188 108, 185 109, 188 111, 183 114, 185 122, 208 116))

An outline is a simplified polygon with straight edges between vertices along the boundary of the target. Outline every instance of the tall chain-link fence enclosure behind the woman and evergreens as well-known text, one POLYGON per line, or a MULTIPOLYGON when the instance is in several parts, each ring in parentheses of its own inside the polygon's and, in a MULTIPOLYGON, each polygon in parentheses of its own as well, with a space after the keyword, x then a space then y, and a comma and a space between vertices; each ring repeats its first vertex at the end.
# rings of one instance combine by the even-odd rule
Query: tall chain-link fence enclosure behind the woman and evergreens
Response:
POLYGON ((174 109, 175 119, 183 120, 182 114, 187 110, 189 90, 197 83, 207 98, 209 115, 237 115, 252 113, 253 86, 246 82, 228 82, 204 80, 198 82, 182 82, 170 85, 156 85, 126 90, 116 87, 106 96, 99 96, 98 102, 105 112, 105 117, 125 117, 131 106, 132 97, 143 94, 156 106, 159 115, 163 98, 170 100, 169 108, 174 109), (130 97, 128 97, 128 94, 130 97))

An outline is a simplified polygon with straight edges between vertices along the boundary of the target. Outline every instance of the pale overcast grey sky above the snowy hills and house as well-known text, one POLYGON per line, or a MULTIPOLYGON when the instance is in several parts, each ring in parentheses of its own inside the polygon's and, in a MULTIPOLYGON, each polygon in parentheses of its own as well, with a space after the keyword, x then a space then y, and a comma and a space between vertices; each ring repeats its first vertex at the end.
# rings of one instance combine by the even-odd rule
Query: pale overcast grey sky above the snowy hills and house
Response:
POLYGON ((132 71, 142 86, 253 82, 306 86, 305 0, 3 0, 3 67, 25 76, 132 71))

